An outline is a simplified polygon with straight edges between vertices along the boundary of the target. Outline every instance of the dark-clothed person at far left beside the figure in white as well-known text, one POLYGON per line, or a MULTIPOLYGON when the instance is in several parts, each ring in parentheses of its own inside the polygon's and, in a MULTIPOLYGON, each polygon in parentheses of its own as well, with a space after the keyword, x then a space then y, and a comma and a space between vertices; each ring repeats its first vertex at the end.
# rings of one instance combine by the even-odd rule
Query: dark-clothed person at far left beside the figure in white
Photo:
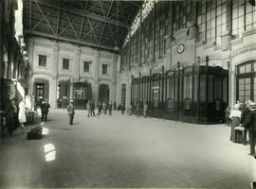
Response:
POLYGON ((9 135, 11 135, 12 131, 18 127, 18 113, 19 108, 17 106, 17 100, 16 98, 13 98, 5 111, 9 135))

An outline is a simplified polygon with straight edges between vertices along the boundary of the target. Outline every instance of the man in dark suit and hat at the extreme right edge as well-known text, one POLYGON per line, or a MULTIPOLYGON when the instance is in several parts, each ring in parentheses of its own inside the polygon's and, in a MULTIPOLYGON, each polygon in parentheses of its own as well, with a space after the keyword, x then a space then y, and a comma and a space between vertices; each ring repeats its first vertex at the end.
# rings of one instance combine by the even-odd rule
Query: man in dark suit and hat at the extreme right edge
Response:
POLYGON ((255 156, 255 140, 256 140, 256 103, 248 104, 250 112, 248 113, 248 134, 250 155, 255 156))

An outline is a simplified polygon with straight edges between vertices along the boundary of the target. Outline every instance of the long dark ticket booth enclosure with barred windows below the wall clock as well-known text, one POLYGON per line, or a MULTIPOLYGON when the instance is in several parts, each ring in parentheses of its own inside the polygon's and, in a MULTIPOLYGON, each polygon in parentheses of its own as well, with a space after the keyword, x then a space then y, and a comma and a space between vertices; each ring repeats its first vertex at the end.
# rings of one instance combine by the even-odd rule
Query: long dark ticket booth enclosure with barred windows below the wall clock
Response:
POLYGON ((132 77, 132 105, 146 100, 149 116, 192 123, 219 123, 228 106, 229 72, 218 66, 177 66, 132 77))

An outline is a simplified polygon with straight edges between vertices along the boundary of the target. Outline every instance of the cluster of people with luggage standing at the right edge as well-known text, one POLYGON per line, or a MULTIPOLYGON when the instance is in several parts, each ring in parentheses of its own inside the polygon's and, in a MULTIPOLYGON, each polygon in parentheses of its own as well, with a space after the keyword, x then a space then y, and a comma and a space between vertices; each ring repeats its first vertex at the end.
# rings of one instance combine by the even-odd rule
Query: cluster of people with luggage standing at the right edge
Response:
POLYGON ((237 131, 243 130, 243 144, 247 145, 247 133, 249 137, 250 155, 255 156, 256 141, 256 103, 247 100, 245 104, 239 101, 234 105, 234 109, 226 109, 227 124, 230 124, 230 141, 236 143, 237 131))

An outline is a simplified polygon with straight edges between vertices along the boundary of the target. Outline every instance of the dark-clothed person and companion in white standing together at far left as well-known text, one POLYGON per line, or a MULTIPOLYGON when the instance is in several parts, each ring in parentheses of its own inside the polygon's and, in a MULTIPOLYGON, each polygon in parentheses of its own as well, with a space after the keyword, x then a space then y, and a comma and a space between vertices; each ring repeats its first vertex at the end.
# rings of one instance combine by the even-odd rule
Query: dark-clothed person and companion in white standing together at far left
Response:
POLYGON ((3 124, 7 127, 9 135, 11 135, 13 130, 18 127, 20 127, 24 133, 24 123, 27 122, 26 110, 27 108, 24 98, 22 98, 19 103, 16 98, 10 100, 9 106, 4 112, 6 124, 3 124))

